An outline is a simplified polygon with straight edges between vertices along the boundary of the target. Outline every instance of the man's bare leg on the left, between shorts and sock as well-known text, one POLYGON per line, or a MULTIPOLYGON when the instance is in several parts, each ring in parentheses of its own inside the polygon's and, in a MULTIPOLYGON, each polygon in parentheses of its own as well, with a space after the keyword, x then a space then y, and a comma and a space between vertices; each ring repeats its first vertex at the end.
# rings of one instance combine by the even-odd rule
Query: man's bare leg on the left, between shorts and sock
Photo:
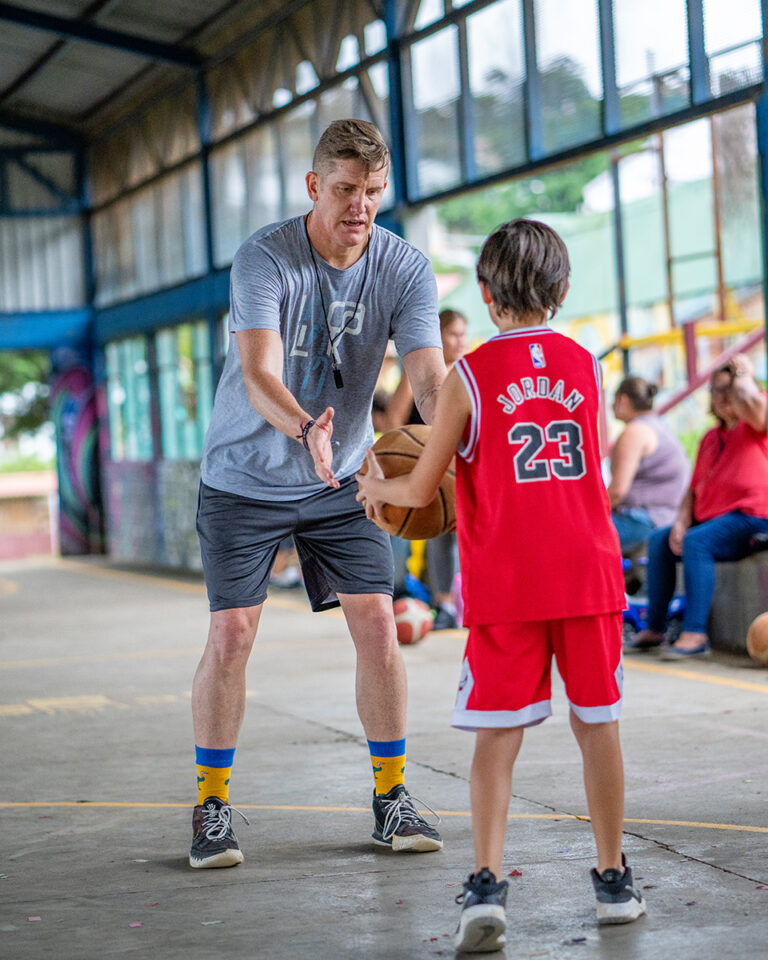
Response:
POLYGON ((258 607, 211 614, 208 642, 192 683, 192 721, 199 747, 237 744, 245 715, 245 668, 261 616, 258 607))

